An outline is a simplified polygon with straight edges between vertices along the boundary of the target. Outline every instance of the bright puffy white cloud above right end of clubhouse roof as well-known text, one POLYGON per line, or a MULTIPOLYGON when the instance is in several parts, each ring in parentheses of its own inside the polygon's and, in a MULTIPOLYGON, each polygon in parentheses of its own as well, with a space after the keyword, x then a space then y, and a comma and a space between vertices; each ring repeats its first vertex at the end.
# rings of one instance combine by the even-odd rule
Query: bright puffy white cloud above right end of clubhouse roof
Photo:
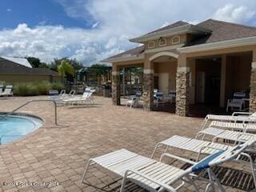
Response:
POLYGON ((228 3, 219 8, 213 18, 226 22, 247 22, 255 15, 254 10, 250 10, 246 6, 234 6, 228 3))

